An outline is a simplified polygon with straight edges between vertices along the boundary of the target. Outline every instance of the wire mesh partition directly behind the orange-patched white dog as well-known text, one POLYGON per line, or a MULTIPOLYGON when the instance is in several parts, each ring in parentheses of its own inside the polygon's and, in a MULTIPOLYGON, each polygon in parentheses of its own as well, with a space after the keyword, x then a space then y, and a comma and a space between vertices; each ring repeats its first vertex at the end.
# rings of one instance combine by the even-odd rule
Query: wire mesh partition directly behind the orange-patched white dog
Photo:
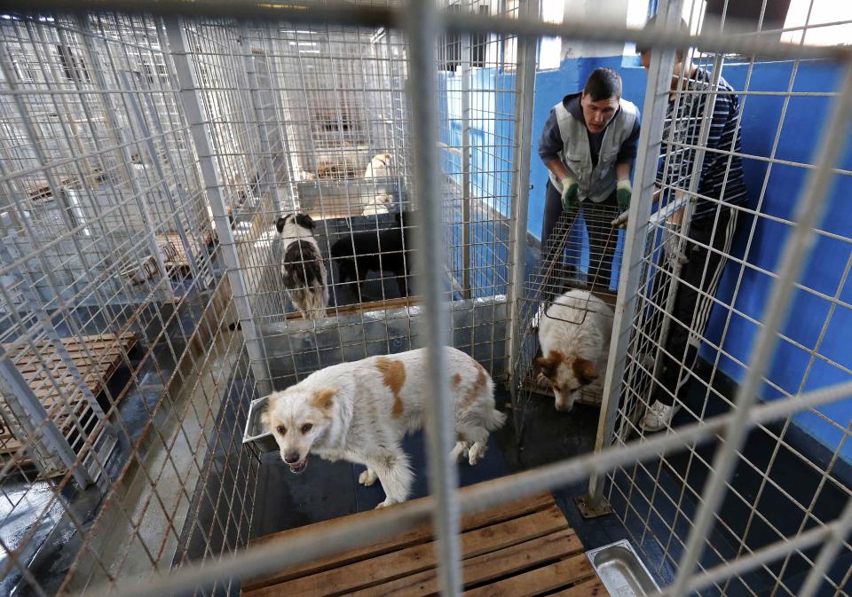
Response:
MULTIPOLYGON (((224 141, 210 139, 211 161, 222 179, 214 178, 215 186, 226 191, 227 171, 239 155, 251 157, 239 168, 256 180, 255 196, 234 211, 232 224, 252 316, 248 324, 255 326, 253 366, 274 388, 284 388, 322 366, 414 346, 422 325, 422 287, 413 250, 417 216, 406 214, 417 212, 421 200, 412 186, 405 37, 398 28, 325 23, 214 21, 186 28, 192 32, 185 60, 201 98, 199 122, 209 122, 211 137, 230 131, 224 141), (205 77, 214 73, 220 76, 211 84, 205 77), (211 111, 215 117, 203 115, 211 111), (385 154, 386 166, 368 175, 371 159, 385 154), (315 322, 301 320, 281 282, 276 221, 294 212, 312 217, 327 268, 329 317, 315 322), (402 247, 380 246, 365 255, 376 262, 404 261, 404 272, 359 266, 353 281, 343 280, 332 247, 345 243, 352 250, 355 235, 385 238, 388 233, 401 234, 402 247)), ((456 98, 472 108, 463 114, 457 106, 439 109, 442 131, 464 129, 473 138, 469 166, 443 161, 438 179, 442 221, 450 224, 441 287, 454 300, 454 310, 468 311, 454 318, 462 326, 454 330, 455 345, 505 377, 510 312, 504 305, 510 303, 514 273, 510 197, 521 163, 513 160, 521 159, 523 152, 515 149, 524 144, 514 137, 516 63, 506 50, 514 47, 514 37, 475 38, 465 60, 467 75, 454 73, 447 83, 458 87, 456 98), (462 120, 468 124, 460 126, 462 120)), ((457 141, 450 145, 443 132, 441 137, 442 157, 461 154, 457 141)))

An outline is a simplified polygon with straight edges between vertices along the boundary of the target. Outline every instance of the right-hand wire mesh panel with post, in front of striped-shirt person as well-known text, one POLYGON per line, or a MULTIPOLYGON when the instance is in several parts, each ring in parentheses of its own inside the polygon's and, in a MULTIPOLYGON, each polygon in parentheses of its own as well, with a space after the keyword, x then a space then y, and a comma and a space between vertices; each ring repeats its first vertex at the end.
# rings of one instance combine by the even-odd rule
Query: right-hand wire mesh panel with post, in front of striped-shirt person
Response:
MULTIPOLYGON (((683 14, 693 31, 721 30, 723 12, 705 12, 702 3, 680 4, 671 3, 669 10, 683 14)), ((766 10, 767 3, 763 6, 766 10)), ((837 24, 852 30, 849 21, 837 24)), ((806 21, 801 33, 808 28, 806 21)), ((766 35, 785 33, 790 31, 766 35)), ((848 410, 814 407, 755 428, 746 422, 746 413, 760 399, 801 397, 849 379, 848 360, 840 357, 834 342, 849 309, 844 288, 852 235, 847 224, 832 216, 839 198, 826 194, 848 185, 848 170, 837 167, 845 144, 845 135, 837 129, 848 126, 848 66, 838 67, 840 78, 829 90, 815 90, 802 81, 806 62, 794 59, 787 75, 767 84, 761 59, 702 50, 698 45, 690 54, 692 64, 709 74, 706 82, 671 95, 667 72, 672 56, 651 53, 643 135, 650 125, 645 142, 652 144, 654 136, 662 139, 666 158, 656 177, 656 188, 662 189, 657 210, 666 216, 652 217, 647 227, 635 229, 632 239, 628 232, 611 378, 604 390, 597 441, 599 447, 624 446, 654 437, 643 417, 663 393, 680 412, 660 433, 677 434, 687 422, 704 421, 718 412, 734 413, 736 422, 725 429, 723 442, 688 444, 680 452, 618 467, 605 481, 594 478, 591 497, 593 502, 597 496, 607 499, 635 545, 643 546, 659 574, 669 578, 672 594, 685 594, 692 575, 702 570, 710 571, 714 580, 707 594, 811 595, 820 586, 826 594, 847 594, 846 569, 839 570, 840 559, 831 560, 848 549, 845 538, 822 551, 793 546, 793 539, 808 529, 824 528, 830 517, 846 520, 848 410), (655 76, 658 93, 653 92, 655 76), (728 77, 743 81, 735 93, 744 122, 732 137, 720 139, 716 128, 721 129, 719 106, 726 100, 722 96, 728 77), (788 136, 794 134, 800 110, 811 102, 809 110, 827 111, 828 98, 834 98, 834 106, 825 114, 824 136, 813 155, 791 159, 788 136), (767 142, 744 137, 750 129, 745 124, 748 114, 768 107, 762 116, 769 121, 767 142), (656 120, 658 114, 664 118, 656 120), (746 172, 761 171, 758 196, 726 208, 719 192, 708 197, 699 189, 701 177, 722 164, 722 196, 735 196, 740 161, 746 172), (801 192, 789 208, 780 207, 788 196, 778 195, 777 180, 782 177, 788 188, 801 192), (704 222, 712 223, 716 239, 694 240, 702 237, 690 232, 690 224, 706 226, 695 224, 694 215, 708 203, 713 211, 704 222), (681 212, 685 215, 678 219, 681 212), (725 240, 737 220, 738 235, 725 240), (769 236, 785 241, 777 259, 761 255, 769 236), (724 269, 707 260, 703 271, 688 272, 699 246, 709 250, 716 263, 727 262, 724 269), (809 257, 805 247, 817 248, 809 257), (684 258, 672 260, 672 255, 684 258), (839 270, 819 268, 817 263, 828 255, 838 255, 839 270), (814 268, 822 274, 815 275, 814 268), (769 287, 768 280, 775 290, 756 304, 756 289, 769 287), (697 301, 684 311, 684 297, 690 292, 697 301), (797 321, 804 312, 814 313, 810 326, 797 321), (753 343, 750 352, 739 344, 744 328, 753 343), (685 346, 672 342, 679 331, 688 335, 685 346), (676 378, 674 385, 669 378, 676 378), (737 385, 731 386, 730 379, 737 385), (820 421, 832 437, 824 454, 815 451, 815 440, 802 438, 801 425, 809 418, 820 421), (772 546, 785 543, 785 554, 769 557, 772 546), (740 566, 744 561, 753 565, 740 566)), ((816 131, 807 137, 817 139, 816 131)), ((651 165, 656 155, 648 154, 648 145, 640 145, 640 152, 647 152, 646 169, 640 172, 650 177, 657 170, 651 165)), ((644 177, 641 181, 650 185, 644 177)), ((648 207, 640 203, 639 214, 648 207)))

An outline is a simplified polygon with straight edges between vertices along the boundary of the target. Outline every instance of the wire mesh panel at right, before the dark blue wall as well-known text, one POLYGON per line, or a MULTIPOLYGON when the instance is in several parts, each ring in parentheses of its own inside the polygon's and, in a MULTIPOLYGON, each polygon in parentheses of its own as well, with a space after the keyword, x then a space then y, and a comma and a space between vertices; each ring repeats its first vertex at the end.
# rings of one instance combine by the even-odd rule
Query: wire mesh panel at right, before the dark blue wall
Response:
MULTIPOLYGON (((702 15, 699 8, 695 4, 684 7, 683 17, 693 30, 700 20, 712 16, 702 15)), ((721 29, 722 25, 707 20, 704 27, 721 29)), ((792 31, 801 34, 795 27, 792 31)), ((790 35, 786 30, 772 33, 790 35)), ((803 36, 795 41, 801 43, 803 36)), ((680 74, 680 86, 675 88, 672 83, 663 108, 660 125, 666 151, 661 153, 666 159, 656 169, 661 189, 658 216, 651 217, 647 240, 636 245, 635 303, 629 322, 625 320, 616 331, 626 339, 622 344, 626 364, 618 400, 611 405, 612 436, 599 438, 604 442, 611 438, 616 445, 652 437, 660 429, 672 432, 721 412, 741 412, 739 407, 749 400, 806 397, 808 388, 817 389, 829 379, 845 376, 840 372, 846 365, 826 358, 832 350, 832 323, 837 326, 840 321, 833 319, 837 311, 829 304, 836 304, 842 294, 845 276, 840 272, 827 277, 793 273, 787 268, 801 267, 795 258, 787 254, 787 261, 769 264, 754 243, 761 233, 778 235, 776 238, 788 239, 787 250, 796 251, 791 230, 804 233, 809 228, 807 233, 825 237, 817 242, 840 243, 832 248, 825 244, 829 253, 839 250, 848 256, 847 249, 840 248, 848 242, 848 227, 836 220, 834 224, 840 226, 832 226, 832 216, 819 224, 818 217, 809 219, 801 210, 778 218, 778 197, 772 198, 772 185, 784 176, 778 169, 792 169, 785 174, 799 169, 788 183, 802 189, 801 169, 814 169, 813 164, 825 157, 803 157, 802 161, 784 157, 783 129, 791 122, 785 116, 803 108, 796 106, 798 101, 818 98, 821 92, 810 88, 802 89, 801 96, 793 92, 801 65, 798 60, 793 61, 792 72, 762 88, 754 79, 761 68, 758 60, 740 63, 728 52, 682 51, 689 61, 680 63, 692 65, 693 70, 680 74), (731 87, 726 78, 743 82, 731 87), (773 110, 780 110, 779 114, 773 112, 762 132, 774 138, 774 144, 765 149, 756 148, 753 141, 746 145, 747 127, 741 122, 729 126, 722 113, 728 110, 739 121, 750 110, 761 109, 753 105, 769 98, 773 110), (809 159, 815 160, 813 164, 809 159), (746 176, 750 175, 755 164, 761 164, 758 179, 762 186, 756 189, 757 197, 748 198, 747 192, 755 189, 750 186, 746 192, 743 172, 745 169, 746 176), (764 275, 777 279, 789 275, 798 280, 794 285, 797 296, 784 326, 773 327, 779 321, 770 312, 777 300, 784 300, 778 295, 764 303, 765 310, 753 310, 753 303, 746 306, 746 296, 765 290, 758 281, 764 275), (824 315, 815 322, 819 333, 805 340, 801 328, 793 331, 793 320, 798 307, 809 300, 814 305, 824 301, 826 311, 821 310, 824 315), (739 360, 738 334, 754 324, 764 332, 755 334, 755 342, 769 342, 772 337, 779 346, 774 357, 754 350, 749 358, 739 360), (799 350, 799 355, 793 354, 799 350), (814 376, 817 362, 827 367, 822 381, 817 381, 819 373, 814 376), (796 373, 789 376, 779 374, 793 369, 796 373), (765 386, 759 389, 762 384, 765 386), (663 410, 655 411, 658 407, 663 410)), ((846 185, 841 179, 838 184, 846 185)), ((803 189, 800 208, 812 197, 803 189)), ((825 199, 825 214, 832 212, 832 204, 831 197, 825 199)), ((822 420, 826 429, 848 428, 848 412, 832 419, 817 408, 805 416, 810 415, 822 420)), ((646 553, 659 562, 661 575, 670 575, 675 592, 685 591, 690 584, 687 570, 693 567, 718 570, 738 559, 754 557, 760 563, 744 573, 708 581, 706 590, 799 595, 815 594, 823 584, 820 594, 845 594, 848 575, 840 553, 846 547, 837 552, 836 561, 823 559, 824 568, 819 571, 811 568, 820 560, 814 548, 791 546, 776 562, 759 556, 773 541, 795 543, 794 537, 810 524, 819 524, 817 520, 824 521, 825 516, 839 516, 848 501, 848 481, 840 464, 845 439, 830 442, 828 454, 817 455, 807 447, 809 440, 798 435, 801 416, 757 424, 747 432, 734 430, 734 436, 729 431, 723 442, 690 444, 682 452, 619 467, 609 476, 604 491, 609 502, 634 541, 645 545, 646 553), (741 435, 736 435, 738 431, 741 435), (722 453, 730 460, 720 468, 722 453), (653 534, 649 533, 651 527, 655 528, 653 534)))

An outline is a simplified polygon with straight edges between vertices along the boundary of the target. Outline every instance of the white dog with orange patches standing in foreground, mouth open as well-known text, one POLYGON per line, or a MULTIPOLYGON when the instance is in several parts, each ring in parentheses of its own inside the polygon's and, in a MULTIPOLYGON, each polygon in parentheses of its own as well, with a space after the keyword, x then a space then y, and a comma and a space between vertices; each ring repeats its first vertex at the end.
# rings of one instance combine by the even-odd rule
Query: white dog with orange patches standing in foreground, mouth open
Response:
MULTIPOLYGON (((506 415, 494 408, 493 381, 482 365, 461 350, 444 350, 459 439, 451 457, 475 465, 506 415)), ((427 378, 424 349, 332 365, 272 394, 264 425, 294 473, 304 472, 311 454, 366 465, 359 483, 378 479, 385 493, 379 507, 390 506, 411 493, 414 473, 401 441, 423 427, 427 378)))

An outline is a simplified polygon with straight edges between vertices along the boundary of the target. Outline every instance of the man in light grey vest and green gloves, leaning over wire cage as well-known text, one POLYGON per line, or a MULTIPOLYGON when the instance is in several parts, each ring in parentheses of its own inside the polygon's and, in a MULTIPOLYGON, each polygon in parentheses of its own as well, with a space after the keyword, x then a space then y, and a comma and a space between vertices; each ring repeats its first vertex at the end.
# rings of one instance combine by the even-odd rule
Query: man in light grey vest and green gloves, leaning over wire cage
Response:
MULTIPOLYGON (((539 156, 550 179, 541 228, 541 250, 555 255, 559 239, 550 239, 565 210, 582 211, 589 244, 588 286, 610 286, 616 232, 611 220, 630 205, 630 171, 639 141, 639 110, 621 98, 621 77, 611 68, 596 68, 579 93, 565 96, 550 110, 539 141, 539 156), (548 244, 548 240, 550 241, 548 244)), ((566 233, 561 230, 560 235, 566 233)), ((574 243, 572 243, 574 244, 574 243)), ((579 250, 569 247, 573 261, 579 250)), ((548 287, 548 296, 558 294, 548 287)))

